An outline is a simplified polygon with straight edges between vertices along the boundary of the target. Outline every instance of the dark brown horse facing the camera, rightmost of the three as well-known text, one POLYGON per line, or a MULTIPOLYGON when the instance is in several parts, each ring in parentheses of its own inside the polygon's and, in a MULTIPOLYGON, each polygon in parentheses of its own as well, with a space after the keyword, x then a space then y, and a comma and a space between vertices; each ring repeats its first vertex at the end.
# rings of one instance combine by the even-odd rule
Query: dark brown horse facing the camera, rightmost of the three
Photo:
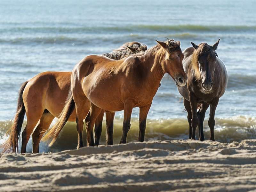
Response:
POLYGON ((204 116, 210 106, 210 139, 214 141, 215 110, 220 97, 224 94, 228 73, 224 63, 219 59, 215 50, 220 39, 214 45, 201 43, 184 50, 183 67, 188 75, 187 86, 179 87, 184 106, 188 112, 189 139, 196 139, 198 125, 199 140, 204 140, 204 116), (199 111, 196 113, 197 108, 199 111))

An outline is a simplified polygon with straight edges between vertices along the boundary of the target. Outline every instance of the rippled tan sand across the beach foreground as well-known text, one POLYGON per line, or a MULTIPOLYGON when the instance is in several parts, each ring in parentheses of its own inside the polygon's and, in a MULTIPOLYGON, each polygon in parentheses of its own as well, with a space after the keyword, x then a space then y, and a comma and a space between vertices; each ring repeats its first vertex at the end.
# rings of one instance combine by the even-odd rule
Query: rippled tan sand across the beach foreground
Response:
POLYGON ((3 154, 0 191, 253 191, 256 140, 149 141, 3 154))

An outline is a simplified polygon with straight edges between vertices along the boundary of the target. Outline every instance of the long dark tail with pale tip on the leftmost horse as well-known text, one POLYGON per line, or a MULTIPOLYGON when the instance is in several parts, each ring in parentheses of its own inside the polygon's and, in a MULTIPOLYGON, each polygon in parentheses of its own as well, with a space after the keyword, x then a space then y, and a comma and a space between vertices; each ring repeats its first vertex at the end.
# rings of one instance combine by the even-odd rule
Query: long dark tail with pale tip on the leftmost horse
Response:
POLYGON ((0 149, 3 149, 3 153, 15 153, 18 149, 18 141, 20 137, 21 126, 24 120, 24 116, 26 113, 26 109, 23 103, 22 94, 23 91, 28 84, 28 81, 24 82, 20 87, 18 103, 17 103, 17 110, 14 117, 14 121, 12 127, 7 131, 10 132, 10 137, 7 141, 5 141, 1 146, 0 149))

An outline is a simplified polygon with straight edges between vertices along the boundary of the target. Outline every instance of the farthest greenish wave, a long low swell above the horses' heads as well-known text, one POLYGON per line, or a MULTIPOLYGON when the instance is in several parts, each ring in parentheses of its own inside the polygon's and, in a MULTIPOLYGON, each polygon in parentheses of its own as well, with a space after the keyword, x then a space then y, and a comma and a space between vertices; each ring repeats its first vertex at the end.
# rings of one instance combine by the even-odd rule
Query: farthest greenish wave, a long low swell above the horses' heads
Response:
POLYGON ((256 26, 246 25, 129 25, 111 27, 63 27, 63 26, 38 26, 38 27, 7 27, 0 29, 0 33, 7 32, 38 32, 38 33, 102 33, 102 32, 143 32, 143 31, 205 31, 205 32, 235 32, 235 31, 256 31, 256 26))

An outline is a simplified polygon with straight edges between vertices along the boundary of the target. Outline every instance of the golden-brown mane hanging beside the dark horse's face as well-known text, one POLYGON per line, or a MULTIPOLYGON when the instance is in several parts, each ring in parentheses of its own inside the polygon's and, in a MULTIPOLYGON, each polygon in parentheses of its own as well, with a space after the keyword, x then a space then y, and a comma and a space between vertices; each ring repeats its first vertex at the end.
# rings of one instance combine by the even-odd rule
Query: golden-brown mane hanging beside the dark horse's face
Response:
POLYGON ((195 71, 195 77, 196 77, 197 80, 199 80, 201 78, 199 67, 198 67, 198 58, 202 54, 211 51, 211 47, 207 43, 200 43, 198 46, 199 47, 197 49, 195 49, 193 54, 192 54, 192 67, 195 71))

